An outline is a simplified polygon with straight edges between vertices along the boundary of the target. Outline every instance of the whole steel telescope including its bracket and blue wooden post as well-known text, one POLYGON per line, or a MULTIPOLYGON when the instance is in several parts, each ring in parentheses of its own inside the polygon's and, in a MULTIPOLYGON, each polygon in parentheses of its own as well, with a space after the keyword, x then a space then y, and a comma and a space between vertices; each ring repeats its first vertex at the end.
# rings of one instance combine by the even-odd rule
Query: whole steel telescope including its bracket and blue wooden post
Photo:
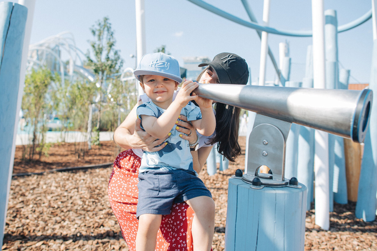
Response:
POLYGON ((257 113, 246 141, 247 170, 228 184, 225 249, 303 250, 307 187, 285 178, 291 123, 363 142, 372 91, 200 84, 195 92, 257 113), (262 166, 271 173, 259 173, 262 166))

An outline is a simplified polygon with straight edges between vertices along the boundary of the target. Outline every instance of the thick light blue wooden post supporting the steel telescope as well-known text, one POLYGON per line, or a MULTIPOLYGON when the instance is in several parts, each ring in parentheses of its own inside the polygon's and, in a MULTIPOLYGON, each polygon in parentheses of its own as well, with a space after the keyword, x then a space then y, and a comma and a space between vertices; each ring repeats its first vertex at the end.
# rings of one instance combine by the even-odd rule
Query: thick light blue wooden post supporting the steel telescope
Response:
POLYGON ((253 189, 230 178, 225 250, 303 251, 307 189, 299 185, 253 189))

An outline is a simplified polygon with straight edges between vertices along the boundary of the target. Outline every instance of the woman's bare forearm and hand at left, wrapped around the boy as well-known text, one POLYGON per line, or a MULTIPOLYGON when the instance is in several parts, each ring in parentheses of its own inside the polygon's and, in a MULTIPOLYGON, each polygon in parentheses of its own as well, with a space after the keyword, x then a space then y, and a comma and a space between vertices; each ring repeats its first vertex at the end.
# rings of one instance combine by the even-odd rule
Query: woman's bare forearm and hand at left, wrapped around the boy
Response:
POLYGON ((140 128, 141 120, 136 116, 136 108, 140 103, 132 108, 123 123, 116 128, 113 140, 116 145, 125 149, 143 149, 148 152, 159 151, 165 147, 165 144, 158 145, 164 142, 169 136, 156 140, 155 137, 152 137, 140 128))

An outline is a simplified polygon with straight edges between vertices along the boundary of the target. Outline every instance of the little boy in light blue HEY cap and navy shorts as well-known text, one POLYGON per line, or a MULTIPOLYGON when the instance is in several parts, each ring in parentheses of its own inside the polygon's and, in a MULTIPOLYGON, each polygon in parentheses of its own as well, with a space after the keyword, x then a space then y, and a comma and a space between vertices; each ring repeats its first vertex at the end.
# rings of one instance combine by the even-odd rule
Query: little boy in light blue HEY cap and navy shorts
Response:
POLYGON ((193 81, 184 82, 173 101, 174 91, 178 90, 182 79, 178 61, 164 53, 144 55, 133 74, 152 100, 136 109, 141 129, 155 138, 170 136, 164 148, 156 152, 144 151, 141 158, 136 251, 155 250, 162 215, 170 214, 174 202, 186 202, 194 210, 194 250, 210 251, 215 229, 215 202, 203 181, 195 176, 199 161, 193 161, 190 153, 195 148, 190 149, 189 141, 182 139, 182 134, 176 131, 176 122, 182 114, 200 134, 212 135, 216 126, 212 102, 193 93, 198 87, 193 81))

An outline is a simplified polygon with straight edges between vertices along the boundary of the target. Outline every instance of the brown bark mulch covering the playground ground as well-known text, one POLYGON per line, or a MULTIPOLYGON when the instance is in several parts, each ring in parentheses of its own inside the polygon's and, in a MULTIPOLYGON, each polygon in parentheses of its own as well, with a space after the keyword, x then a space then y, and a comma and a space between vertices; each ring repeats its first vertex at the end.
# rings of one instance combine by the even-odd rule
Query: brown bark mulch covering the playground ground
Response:
MULTIPOLYGON (((245 137, 240 137, 240 144, 243 154, 228 170, 199 175, 216 203, 214 251, 224 250, 228 179, 236 169, 244 169, 245 137)), ((111 163, 118 149, 111 141, 101 145, 77 159, 77 144, 54 144, 49 156, 30 163, 20 160, 22 147, 17 146, 14 174, 50 172, 12 178, 2 250, 128 251, 107 197, 112 167, 51 172, 111 163)), ((314 209, 308 211, 305 250, 377 250, 377 221, 357 219, 355 206, 353 202, 334 204, 329 231, 314 224, 314 209)))

